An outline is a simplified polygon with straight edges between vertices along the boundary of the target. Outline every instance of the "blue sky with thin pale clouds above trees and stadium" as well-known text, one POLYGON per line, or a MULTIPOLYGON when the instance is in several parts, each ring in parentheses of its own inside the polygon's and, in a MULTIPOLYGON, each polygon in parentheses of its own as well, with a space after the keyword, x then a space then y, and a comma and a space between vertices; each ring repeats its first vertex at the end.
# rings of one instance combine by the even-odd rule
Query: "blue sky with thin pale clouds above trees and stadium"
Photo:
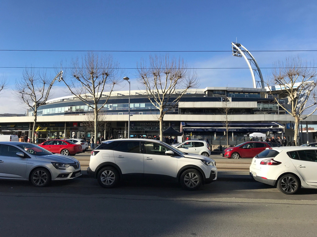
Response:
MULTIPOLYGON (((317 50, 316 1, 3 1, 1 50, 231 50, 241 43, 255 57, 265 78, 272 63, 299 54, 314 61, 316 52, 253 52, 317 50)), ((14 86, 24 67, 43 67, 52 78, 54 65, 85 52, 0 51, 0 75, 14 86), (13 67, 13 68, 9 68, 13 67)), ((121 67, 135 68, 148 52, 111 52, 121 67)), ((152 53, 155 54, 155 53, 152 53)), ((164 54, 164 53, 157 53, 164 54)), ((231 52, 173 52, 189 67, 247 67, 231 52)), ((249 69, 197 69, 200 88, 252 87, 249 69)), ((135 69, 126 69, 137 89, 135 69)), ((67 94, 55 84, 54 97, 67 94)), ((128 89, 128 84, 121 89, 128 89)), ((20 112, 9 87, 0 97, 12 98, 1 113, 20 112)))

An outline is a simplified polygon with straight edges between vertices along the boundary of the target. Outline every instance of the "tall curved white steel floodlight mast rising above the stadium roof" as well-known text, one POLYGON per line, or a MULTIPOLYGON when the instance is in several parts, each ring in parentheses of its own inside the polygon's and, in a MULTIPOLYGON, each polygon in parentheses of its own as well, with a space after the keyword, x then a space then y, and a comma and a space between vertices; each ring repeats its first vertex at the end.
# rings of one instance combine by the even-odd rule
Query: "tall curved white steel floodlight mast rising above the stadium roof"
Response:
POLYGON ((244 48, 242 44, 231 42, 231 45, 232 55, 236 57, 243 57, 247 62, 252 76, 253 88, 264 88, 261 70, 252 54, 248 51, 248 49, 244 48))

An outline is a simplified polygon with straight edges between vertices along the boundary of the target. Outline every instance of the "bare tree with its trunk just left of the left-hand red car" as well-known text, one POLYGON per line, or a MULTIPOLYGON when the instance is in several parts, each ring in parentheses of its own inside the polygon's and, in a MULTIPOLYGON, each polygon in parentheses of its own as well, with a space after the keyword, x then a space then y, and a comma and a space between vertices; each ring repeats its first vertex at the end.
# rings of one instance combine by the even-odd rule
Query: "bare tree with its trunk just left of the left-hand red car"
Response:
POLYGON ((35 143, 34 131, 36 127, 37 109, 49 97, 49 79, 46 73, 35 72, 34 69, 25 69, 21 80, 16 80, 14 92, 21 103, 26 104, 34 116, 32 127, 32 143, 35 143))

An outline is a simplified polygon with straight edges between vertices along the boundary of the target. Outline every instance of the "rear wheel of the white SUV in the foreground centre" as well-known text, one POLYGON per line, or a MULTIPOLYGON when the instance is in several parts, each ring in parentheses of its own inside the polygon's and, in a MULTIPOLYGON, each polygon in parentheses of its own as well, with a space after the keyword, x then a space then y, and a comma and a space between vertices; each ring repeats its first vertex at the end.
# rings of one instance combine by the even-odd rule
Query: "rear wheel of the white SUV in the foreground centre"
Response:
POLYGON ((119 183, 119 172, 117 169, 108 166, 102 168, 97 175, 98 183, 103 188, 113 188, 119 183))

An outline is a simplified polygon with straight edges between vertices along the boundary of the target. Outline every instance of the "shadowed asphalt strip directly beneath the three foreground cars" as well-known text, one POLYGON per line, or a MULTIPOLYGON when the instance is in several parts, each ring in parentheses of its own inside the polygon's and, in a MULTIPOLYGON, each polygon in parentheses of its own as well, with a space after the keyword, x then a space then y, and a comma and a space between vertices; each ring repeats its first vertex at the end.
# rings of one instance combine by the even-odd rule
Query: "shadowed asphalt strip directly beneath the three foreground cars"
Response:
POLYGON ((161 198, 254 198, 284 200, 317 200, 317 189, 301 189, 295 195, 285 195, 275 187, 256 181, 226 180, 203 185, 197 191, 187 191, 176 182, 121 181, 117 188, 102 188, 96 179, 76 178, 52 182, 49 187, 37 188, 24 181, 0 181, 0 193, 79 194, 79 195, 137 195, 161 198))

